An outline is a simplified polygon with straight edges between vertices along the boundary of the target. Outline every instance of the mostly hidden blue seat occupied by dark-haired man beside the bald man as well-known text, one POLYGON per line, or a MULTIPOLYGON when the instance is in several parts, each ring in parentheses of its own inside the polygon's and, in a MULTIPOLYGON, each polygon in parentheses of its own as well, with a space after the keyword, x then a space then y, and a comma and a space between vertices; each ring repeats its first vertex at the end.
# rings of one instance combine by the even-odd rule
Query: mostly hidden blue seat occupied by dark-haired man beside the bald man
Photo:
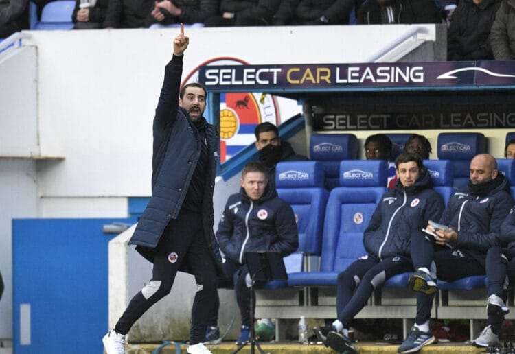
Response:
MULTIPOLYGON (((451 196, 455 191, 453 187, 454 169, 453 164, 448 160, 424 160, 424 166, 427 167, 431 180, 433 181, 433 190, 444 198, 447 205, 451 196)), ((385 281, 385 287, 407 287, 408 279, 413 272, 407 272, 392 276, 385 281)))

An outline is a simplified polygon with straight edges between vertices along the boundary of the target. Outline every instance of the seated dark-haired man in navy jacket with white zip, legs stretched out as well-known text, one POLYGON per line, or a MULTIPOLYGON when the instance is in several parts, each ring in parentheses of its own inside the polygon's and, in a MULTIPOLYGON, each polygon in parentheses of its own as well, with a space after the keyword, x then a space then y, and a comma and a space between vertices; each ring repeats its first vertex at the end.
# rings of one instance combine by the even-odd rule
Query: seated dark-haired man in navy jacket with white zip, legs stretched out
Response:
POLYGON ((356 353, 347 337, 349 322, 387 279, 413 271, 411 235, 422 233, 428 220, 439 219, 444 211, 444 200, 431 188, 431 176, 420 156, 400 154, 396 166, 395 189, 382 196, 363 234, 367 254, 338 276, 337 320, 331 326, 314 328, 319 340, 339 353, 356 353))

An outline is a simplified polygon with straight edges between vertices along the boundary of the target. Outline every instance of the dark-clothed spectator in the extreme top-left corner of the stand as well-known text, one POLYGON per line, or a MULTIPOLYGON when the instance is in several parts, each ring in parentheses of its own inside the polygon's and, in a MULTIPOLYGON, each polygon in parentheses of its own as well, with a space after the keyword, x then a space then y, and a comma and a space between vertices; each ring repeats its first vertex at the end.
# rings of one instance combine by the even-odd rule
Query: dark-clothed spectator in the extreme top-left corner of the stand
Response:
POLYGON ((29 1, 0 0, 0 38, 29 29, 29 1))

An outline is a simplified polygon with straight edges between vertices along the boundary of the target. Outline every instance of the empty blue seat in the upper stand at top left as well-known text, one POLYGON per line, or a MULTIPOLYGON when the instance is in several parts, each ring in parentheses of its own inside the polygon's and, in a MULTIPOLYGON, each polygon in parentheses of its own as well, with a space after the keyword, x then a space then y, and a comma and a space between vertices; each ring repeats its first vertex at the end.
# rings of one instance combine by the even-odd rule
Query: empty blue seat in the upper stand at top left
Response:
POLYGON ((75 1, 61 0, 47 3, 35 29, 72 29, 71 15, 74 8, 75 1))

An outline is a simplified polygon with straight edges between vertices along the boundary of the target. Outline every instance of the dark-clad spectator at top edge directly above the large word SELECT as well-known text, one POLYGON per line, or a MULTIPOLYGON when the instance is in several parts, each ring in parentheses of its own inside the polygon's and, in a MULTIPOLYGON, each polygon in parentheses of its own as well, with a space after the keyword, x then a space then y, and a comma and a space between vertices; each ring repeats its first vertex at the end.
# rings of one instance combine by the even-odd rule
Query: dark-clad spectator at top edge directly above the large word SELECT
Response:
POLYGON ((279 9, 277 0, 222 0, 220 14, 205 21, 205 27, 266 26, 279 9))

